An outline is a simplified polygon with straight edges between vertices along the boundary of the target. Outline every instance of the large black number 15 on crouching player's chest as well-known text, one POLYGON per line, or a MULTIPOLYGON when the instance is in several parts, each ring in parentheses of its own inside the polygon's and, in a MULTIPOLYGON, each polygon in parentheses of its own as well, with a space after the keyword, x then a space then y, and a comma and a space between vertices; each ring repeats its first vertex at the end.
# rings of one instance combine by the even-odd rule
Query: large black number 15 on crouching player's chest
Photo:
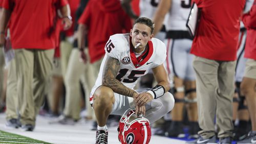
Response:
POLYGON ((127 74, 129 69, 120 69, 118 75, 116 76, 116 79, 118 81, 123 81, 124 83, 133 83, 135 82, 139 77, 135 77, 135 75, 144 75, 146 70, 132 70, 131 74, 128 76, 129 79, 123 79, 122 77, 127 74))

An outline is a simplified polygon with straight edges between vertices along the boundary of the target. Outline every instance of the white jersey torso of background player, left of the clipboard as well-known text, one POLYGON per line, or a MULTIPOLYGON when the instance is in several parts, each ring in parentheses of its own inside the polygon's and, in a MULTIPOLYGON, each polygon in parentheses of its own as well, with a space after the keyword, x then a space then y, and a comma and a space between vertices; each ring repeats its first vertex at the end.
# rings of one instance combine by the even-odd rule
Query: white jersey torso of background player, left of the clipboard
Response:
POLYGON ((173 0, 169 10, 166 31, 184 30, 187 31, 186 21, 190 12, 190 0, 173 0))

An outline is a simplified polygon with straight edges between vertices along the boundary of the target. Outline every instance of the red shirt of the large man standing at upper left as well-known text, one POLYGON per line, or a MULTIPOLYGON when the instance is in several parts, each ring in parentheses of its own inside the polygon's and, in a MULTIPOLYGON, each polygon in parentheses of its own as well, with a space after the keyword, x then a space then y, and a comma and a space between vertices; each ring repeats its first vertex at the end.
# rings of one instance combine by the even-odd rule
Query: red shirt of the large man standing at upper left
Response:
POLYGON ((10 33, 13 49, 54 49, 56 9, 66 0, 4 0, 3 7, 12 12, 10 33))

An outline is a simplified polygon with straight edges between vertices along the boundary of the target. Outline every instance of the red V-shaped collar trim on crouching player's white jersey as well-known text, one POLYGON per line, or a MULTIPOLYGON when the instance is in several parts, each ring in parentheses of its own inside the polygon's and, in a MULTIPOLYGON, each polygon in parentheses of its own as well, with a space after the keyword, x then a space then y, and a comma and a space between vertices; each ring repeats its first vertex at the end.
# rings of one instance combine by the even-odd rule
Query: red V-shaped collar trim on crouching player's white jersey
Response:
MULTIPOLYGON (((142 61, 139 62, 138 59, 135 56, 134 51, 133 51, 133 46, 132 46, 133 44, 132 44, 132 41, 130 39, 130 56, 131 56, 131 59, 132 59, 132 62, 134 64, 135 68, 138 68, 141 65, 145 64, 151 58, 151 56, 153 54, 154 49, 153 49, 152 41, 148 41, 147 44, 148 44, 148 54, 142 61)), ((147 51, 144 51, 143 54, 146 53, 146 52, 147 51)))

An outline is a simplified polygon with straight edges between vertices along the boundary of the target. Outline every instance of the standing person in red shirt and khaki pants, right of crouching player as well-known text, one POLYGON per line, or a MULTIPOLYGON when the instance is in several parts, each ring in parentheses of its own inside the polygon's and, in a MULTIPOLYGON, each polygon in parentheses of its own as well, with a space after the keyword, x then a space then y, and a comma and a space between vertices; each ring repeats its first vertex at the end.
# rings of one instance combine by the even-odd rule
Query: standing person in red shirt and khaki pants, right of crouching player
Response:
POLYGON ((194 0, 201 9, 197 33, 191 47, 196 57, 198 117, 200 137, 187 143, 231 143, 234 69, 245 0, 194 0))

